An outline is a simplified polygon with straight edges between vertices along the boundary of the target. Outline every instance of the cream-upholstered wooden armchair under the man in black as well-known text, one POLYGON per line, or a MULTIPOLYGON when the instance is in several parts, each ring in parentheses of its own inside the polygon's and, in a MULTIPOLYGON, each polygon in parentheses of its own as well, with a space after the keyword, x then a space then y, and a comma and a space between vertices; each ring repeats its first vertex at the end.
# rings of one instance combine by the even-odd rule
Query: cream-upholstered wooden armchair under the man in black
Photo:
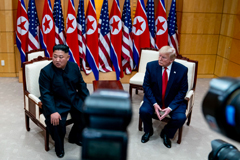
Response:
MULTIPOLYGON (((39 56, 31 61, 23 63, 23 95, 26 129, 30 131, 29 118, 44 131, 45 150, 49 150, 49 133, 45 124, 45 117, 42 114, 42 102, 39 99, 38 78, 40 70, 51 63, 51 58, 39 56)), ((67 124, 71 124, 71 116, 68 114, 67 124)))

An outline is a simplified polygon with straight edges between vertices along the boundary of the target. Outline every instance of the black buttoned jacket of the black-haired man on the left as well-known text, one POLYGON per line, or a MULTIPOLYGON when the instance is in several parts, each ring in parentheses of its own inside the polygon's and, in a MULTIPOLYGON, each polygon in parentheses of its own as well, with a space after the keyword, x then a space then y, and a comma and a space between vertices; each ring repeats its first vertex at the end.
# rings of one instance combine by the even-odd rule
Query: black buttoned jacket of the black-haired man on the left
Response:
POLYGON ((53 63, 44 67, 40 72, 39 86, 45 117, 54 112, 68 112, 71 107, 81 111, 83 101, 89 95, 79 67, 69 61, 64 70, 56 68, 53 63))

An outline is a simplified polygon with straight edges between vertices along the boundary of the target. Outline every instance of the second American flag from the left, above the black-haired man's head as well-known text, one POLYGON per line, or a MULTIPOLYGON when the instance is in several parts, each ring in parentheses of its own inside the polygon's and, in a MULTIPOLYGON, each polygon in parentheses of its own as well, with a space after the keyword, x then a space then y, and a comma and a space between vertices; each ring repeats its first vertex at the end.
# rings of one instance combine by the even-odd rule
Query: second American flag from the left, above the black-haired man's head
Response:
POLYGON ((65 44, 64 20, 61 0, 55 0, 53 7, 53 19, 55 22, 55 43, 65 44))

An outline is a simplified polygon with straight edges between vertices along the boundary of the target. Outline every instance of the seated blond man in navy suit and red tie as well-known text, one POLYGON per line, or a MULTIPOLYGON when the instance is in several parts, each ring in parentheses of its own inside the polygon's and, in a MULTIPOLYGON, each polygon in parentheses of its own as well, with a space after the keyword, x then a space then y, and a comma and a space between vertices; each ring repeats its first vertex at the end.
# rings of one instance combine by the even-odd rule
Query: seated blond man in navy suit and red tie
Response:
POLYGON ((171 148, 170 138, 186 120, 184 97, 188 90, 187 72, 184 65, 174 61, 174 48, 164 46, 159 50, 158 61, 147 64, 144 77, 144 102, 140 107, 140 117, 144 124, 141 142, 146 143, 153 135, 152 115, 156 113, 161 121, 167 115, 171 120, 165 125, 160 136, 166 147, 171 148))

